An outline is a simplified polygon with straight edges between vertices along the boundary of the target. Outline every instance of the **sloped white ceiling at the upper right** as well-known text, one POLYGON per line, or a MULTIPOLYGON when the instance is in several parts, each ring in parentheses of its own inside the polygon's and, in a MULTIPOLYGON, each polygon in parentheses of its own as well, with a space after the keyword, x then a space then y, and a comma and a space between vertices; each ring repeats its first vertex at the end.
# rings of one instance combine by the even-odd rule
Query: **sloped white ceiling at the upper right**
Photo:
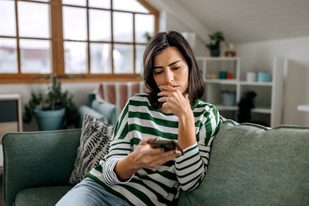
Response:
MULTIPOLYGON (((169 1, 169 0, 167 0, 169 1)), ((175 0, 234 43, 309 36, 309 0, 175 0)), ((308 45, 309 46, 309 45, 308 45)))

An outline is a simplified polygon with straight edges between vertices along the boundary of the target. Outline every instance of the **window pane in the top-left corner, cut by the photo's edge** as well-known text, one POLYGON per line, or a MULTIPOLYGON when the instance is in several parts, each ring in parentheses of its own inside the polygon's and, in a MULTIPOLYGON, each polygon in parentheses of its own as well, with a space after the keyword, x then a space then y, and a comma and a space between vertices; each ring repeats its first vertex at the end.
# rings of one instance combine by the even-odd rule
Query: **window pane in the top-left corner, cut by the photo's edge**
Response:
POLYGON ((15 2, 0 0, 0 35, 16 36, 15 2))

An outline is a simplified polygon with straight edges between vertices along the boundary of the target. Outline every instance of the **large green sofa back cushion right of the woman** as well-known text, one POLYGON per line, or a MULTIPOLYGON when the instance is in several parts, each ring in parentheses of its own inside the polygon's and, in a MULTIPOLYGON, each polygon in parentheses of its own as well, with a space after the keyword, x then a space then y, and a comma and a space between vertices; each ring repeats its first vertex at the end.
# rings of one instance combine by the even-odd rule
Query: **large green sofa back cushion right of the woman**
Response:
POLYGON ((309 128, 221 117, 208 169, 179 205, 309 205, 309 128))

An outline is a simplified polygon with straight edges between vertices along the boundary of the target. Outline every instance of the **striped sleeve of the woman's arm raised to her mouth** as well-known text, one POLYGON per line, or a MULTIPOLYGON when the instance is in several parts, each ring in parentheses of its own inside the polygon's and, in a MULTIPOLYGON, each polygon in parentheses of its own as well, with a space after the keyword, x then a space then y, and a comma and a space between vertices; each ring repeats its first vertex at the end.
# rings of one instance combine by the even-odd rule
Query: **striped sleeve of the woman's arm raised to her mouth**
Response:
POLYGON ((219 112, 211 104, 205 106, 205 123, 199 130, 199 139, 194 145, 184 149, 185 154, 175 158, 175 171, 181 189, 195 189, 205 176, 210 145, 219 128, 219 112))

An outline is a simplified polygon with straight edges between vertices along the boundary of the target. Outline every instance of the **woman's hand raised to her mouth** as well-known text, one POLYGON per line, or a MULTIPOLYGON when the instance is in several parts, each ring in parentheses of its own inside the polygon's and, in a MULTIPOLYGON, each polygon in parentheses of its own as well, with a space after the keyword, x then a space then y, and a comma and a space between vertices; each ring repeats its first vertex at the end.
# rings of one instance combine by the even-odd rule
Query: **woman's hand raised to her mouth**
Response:
POLYGON ((161 92, 158 93, 158 97, 163 97, 158 99, 158 101, 164 102, 163 108, 169 109, 178 118, 192 112, 187 94, 184 97, 179 90, 168 85, 160 85, 159 89, 161 92))

